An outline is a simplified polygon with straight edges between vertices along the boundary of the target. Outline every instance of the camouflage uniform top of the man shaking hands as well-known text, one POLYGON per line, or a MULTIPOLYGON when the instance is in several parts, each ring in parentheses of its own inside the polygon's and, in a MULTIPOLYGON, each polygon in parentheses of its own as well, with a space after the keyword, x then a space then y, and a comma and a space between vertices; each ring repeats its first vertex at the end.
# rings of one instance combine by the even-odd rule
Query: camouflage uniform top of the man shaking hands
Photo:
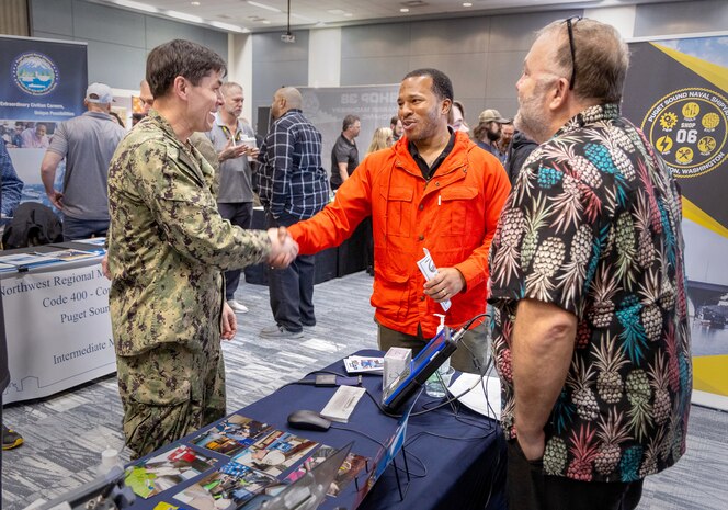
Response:
POLYGON ((219 338, 221 271, 264 260, 265 231, 217 212, 214 170, 156 111, 122 140, 109 169, 110 308, 116 353, 219 338))

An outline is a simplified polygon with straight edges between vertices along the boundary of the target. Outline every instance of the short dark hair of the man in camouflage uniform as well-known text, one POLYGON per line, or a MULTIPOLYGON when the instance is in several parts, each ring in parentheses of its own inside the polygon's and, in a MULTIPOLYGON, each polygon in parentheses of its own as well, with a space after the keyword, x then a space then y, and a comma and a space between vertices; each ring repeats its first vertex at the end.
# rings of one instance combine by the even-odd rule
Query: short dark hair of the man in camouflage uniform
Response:
POLYGON ((191 41, 170 41, 157 46, 147 57, 146 78, 155 98, 167 94, 178 76, 197 86, 211 71, 225 76, 225 60, 212 49, 191 41))

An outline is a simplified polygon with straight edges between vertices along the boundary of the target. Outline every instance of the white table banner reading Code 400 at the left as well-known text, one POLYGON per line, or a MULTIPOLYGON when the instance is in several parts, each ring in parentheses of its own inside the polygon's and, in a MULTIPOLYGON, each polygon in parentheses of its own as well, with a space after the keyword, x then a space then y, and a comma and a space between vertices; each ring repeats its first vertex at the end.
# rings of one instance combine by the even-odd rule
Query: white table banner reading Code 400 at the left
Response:
POLYGON ((11 376, 4 404, 46 397, 116 371, 111 282, 99 261, 3 275, 11 376))

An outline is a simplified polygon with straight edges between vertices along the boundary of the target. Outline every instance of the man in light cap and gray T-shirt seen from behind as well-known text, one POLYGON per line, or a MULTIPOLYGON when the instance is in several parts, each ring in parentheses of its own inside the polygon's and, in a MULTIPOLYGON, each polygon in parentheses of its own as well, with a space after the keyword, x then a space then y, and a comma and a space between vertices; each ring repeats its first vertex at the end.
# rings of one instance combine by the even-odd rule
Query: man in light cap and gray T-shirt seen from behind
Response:
POLYGON ((41 179, 50 203, 64 213, 64 240, 105 236, 109 229, 109 162, 126 131, 110 115, 114 94, 91 83, 87 112, 61 123, 41 163, 41 179), (66 158, 62 191, 54 189, 58 163, 66 158))

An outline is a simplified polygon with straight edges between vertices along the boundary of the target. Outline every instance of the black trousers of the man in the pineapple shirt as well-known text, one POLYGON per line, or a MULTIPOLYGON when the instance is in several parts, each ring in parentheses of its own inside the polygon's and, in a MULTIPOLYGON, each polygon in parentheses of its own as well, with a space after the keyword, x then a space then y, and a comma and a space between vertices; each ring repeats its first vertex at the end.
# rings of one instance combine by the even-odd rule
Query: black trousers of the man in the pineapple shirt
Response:
POLYGON ((642 480, 578 481, 544 474, 543 461, 526 460, 516 440, 508 441, 509 510, 633 510, 642 480))

